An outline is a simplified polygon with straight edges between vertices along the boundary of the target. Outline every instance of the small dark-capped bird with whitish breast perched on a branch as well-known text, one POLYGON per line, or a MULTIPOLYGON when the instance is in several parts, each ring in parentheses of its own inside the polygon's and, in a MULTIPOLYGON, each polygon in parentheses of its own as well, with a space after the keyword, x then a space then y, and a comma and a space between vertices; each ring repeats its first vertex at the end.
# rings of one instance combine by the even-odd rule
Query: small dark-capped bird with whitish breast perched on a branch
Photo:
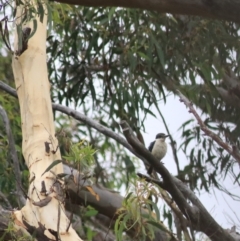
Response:
MULTIPOLYGON (((151 142, 148 147, 148 150, 158 161, 161 161, 167 153, 167 143, 165 142, 165 139, 168 136, 169 135, 165 135, 164 133, 158 133, 156 135, 155 141, 151 142)), ((147 173, 151 175, 152 171, 153 167, 150 166, 147 173)))

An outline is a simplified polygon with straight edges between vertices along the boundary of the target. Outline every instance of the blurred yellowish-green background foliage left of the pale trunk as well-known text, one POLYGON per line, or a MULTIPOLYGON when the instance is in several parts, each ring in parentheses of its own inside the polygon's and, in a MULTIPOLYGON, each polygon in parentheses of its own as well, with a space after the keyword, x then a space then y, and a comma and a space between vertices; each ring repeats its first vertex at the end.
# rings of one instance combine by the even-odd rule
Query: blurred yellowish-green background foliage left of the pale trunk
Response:
MULTIPOLYGON (((2 51, 6 51, 2 49, 2 51)), ((0 76, 6 83, 10 86, 13 85, 13 74, 11 70, 11 55, 9 52, 6 52, 6 55, 0 57, 0 76)), ((15 98, 9 96, 8 94, 0 91, 0 105, 6 110, 12 133, 15 140, 15 148, 18 153, 19 165, 22 173, 23 183, 26 184, 28 174, 24 170, 26 166, 22 158, 21 142, 22 142, 22 133, 21 133, 21 120, 20 120, 20 110, 18 102, 15 98)), ((13 169, 13 162, 11 160, 11 155, 9 151, 9 143, 6 135, 5 126, 3 119, 0 116, 0 190, 9 199, 10 203, 15 206, 18 205, 16 197, 14 195, 16 179, 13 169)), ((26 185, 24 185, 26 187, 26 185)), ((2 203, 2 201, 1 201, 2 203)), ((6 203, 3 204, 6 206, 6 203)), ((9 207, 8 207, 9 208, 9 207)))

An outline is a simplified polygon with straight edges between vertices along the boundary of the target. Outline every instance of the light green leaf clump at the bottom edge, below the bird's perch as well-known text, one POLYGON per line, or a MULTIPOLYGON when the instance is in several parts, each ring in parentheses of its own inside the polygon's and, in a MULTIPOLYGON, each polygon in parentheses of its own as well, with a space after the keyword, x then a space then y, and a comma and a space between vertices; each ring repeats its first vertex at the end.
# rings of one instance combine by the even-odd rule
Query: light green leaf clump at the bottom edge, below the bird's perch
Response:
POLYGON ((135 182, 133 186, 134 191, 128 192, 122 208, 117 213, 118 218, 114 226, 117 240, 124 240, 124 231, 134 233, 134 240, 152 240, 155 228, 165 230, 160 222, 159 208, 150 198, 158 197, 159 194, 154 185, 147 184, 144 180, 135 182))

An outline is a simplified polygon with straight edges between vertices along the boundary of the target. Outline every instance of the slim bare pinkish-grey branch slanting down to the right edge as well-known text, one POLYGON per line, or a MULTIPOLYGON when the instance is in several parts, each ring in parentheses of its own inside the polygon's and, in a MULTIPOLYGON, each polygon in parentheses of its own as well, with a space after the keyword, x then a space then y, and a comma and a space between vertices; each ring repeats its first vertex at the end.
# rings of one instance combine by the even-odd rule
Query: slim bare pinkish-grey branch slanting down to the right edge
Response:
POLYGON ((209 130, 206 127, 206 125, 204 124, 204 122, 202 121, 201 117, 198 115, 198 113, 194 109, 193 104, 188 100, 188 98, 186 96, 184 96, 179 90, 177 90, 177 94, 180 97, 180 101, 183 102, 186 105, 186 107, 189 109, 189 112, 195 116, 201 130, 207 136, 209 136, 211 139, 213 139, 219 146, 221 146, 224 150, 226 150, 231 156, 233 156, 236 159, 236 161, 240 164, 240 153, 239 153, 237 146, 235 146, 235 145, 232 147, 229 146, 218 135, 216 135, 214 132, 209 130))

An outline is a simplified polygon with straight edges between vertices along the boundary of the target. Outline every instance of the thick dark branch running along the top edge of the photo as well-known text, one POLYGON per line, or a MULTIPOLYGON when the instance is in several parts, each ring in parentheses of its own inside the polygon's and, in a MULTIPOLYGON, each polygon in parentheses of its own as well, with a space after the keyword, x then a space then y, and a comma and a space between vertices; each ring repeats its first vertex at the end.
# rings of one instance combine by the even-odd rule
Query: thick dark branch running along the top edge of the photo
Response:
POLYGON ((56 2, 89 7, 125 7, 194 15, 240 23, 239 0, 56 0, 56 2))

